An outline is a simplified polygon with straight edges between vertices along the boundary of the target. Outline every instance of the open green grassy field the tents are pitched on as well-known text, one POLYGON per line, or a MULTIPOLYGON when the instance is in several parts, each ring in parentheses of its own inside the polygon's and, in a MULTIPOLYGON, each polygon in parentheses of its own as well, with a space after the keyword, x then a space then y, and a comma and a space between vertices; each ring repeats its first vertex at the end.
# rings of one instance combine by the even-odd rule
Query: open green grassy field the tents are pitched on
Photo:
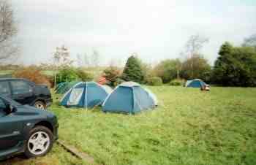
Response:
MULTIPOLYGON (((67 110, 56 102, 60 139, 100 164, 256 164, 256 88, 148 88, 160 105, 138 115, 67 110)), ((50 160, 81 164, 56 145, 28 162, 50 160)))

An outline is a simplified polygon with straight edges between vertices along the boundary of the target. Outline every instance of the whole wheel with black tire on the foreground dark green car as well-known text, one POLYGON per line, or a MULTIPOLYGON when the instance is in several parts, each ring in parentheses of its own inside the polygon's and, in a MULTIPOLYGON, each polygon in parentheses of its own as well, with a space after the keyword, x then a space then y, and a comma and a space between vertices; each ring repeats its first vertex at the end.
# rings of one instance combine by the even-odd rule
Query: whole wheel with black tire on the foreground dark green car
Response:
POLYGON ((36 126, 29 131, 26 140, 25 156, 34 158, 45 156, 53 147, 53 133, 45 126, 36 126))

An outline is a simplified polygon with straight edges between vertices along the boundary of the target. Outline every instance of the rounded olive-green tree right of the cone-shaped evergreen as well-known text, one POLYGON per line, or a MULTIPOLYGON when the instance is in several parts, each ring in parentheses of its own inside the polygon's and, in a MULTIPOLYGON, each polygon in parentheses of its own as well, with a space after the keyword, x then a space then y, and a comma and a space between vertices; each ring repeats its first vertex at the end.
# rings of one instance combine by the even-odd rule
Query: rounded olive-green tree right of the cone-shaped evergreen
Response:
POLYGON ((162 82, 167 83, 178 77, 178 69, 180 69, 181 61, 176 60, 164 60, 154 67, 154 73, 157 77, 162 78, 162 82))

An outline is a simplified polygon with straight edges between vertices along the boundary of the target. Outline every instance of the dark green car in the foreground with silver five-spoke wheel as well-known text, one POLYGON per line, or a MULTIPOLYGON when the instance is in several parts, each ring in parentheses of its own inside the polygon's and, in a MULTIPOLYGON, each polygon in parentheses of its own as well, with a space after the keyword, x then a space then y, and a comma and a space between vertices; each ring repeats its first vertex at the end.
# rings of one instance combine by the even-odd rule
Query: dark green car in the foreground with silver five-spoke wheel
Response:
POLYGON ((0 160, 16 153, 45 156, 58 138, 58 127, 53 113, 0 96, 0 160))

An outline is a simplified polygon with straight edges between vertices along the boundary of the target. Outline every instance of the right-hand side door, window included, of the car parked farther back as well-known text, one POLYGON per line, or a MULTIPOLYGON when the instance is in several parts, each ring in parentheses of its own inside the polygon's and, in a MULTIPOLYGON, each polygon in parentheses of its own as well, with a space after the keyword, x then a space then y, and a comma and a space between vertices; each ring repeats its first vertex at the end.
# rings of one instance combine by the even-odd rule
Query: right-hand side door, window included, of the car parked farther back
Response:
POLYGON ((31 104, 36 98, 34 96, 33 87, 24 80, 10 81, 12 99, 20 104, 31 104))

